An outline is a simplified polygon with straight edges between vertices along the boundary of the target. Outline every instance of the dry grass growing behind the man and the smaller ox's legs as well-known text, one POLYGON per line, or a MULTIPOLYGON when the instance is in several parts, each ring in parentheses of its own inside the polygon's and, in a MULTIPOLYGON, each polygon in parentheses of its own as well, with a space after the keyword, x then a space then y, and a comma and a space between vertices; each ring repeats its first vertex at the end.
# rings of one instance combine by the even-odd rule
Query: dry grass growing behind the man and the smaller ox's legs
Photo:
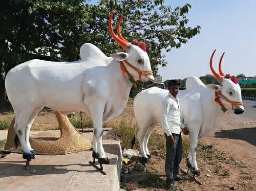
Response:
MULTIPOLYGON (((131 148, 131 141, 134 135, 138 134, 138 127, 136 126, 135 116, 132 105, 127 105, 122 114, 109 123, 104 124, 104 127, 112 128, 109 134, 112 138, 116 138, 121 141, 122 148, 131 148)), ((182 136, 183 142, 183 157, 187 157, 189 152, 189 136, 182 136)), ((150 140, 148 141, 150 149, 159 148, 160 154, 165 155, 166 145, 165 136, 163 133, 153 130, 150 140)), ((198 142, 197 158, 206 159, 209 164, 215 165, 226 159, 223 152, 218 151, 215 147, 209 150, 202 148, 203 141, 198 142)), ((134 149, 140 150, 138 138, 136 136, 136 142, 134 149)))

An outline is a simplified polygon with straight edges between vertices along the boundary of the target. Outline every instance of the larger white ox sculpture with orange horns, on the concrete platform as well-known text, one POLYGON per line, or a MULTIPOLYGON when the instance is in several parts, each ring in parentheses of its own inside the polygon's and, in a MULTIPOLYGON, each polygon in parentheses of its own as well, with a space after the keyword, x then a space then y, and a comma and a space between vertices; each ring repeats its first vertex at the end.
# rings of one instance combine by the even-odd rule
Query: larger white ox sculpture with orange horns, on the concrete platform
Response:
POLYGON ((96 46, 83 44, 81 60, 49 62, 30 60, 12 68, 5 87, 15 113, 14 129, 27 160, 34 158, 29 131, 35 116, 45 106, 66 115, 74 111, 91 114, 94 124, 93 157, 109 164, 102 147, 102 123, 123 111, 133 83, 154 82, 150 59, 139 46, 114 33, 111 13, 109 29, 124 52, 106 57, 96 46), (129 78, 129 80, 128 80, 129 78))

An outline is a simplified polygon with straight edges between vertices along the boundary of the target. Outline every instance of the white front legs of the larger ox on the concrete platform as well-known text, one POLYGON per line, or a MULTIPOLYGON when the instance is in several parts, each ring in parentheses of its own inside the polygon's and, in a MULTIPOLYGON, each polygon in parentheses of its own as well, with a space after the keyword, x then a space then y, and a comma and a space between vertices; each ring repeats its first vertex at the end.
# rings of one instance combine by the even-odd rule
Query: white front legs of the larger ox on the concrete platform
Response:
POLYGON ((97 105, 91 106, 90 112, 92 115, 93 126, 94 126, 93 155, 96 154, 96 156, 98 156, 98 162, 100 164, 109 164, 110 161, 108 157, 106 157, 105 151, 102 146, 102 135, 103 135, 102 119, 103 119, 103 112, 104 112, 104 104, 97 103, 97 105), (97 155, 97 153, 99 155, 97 155))

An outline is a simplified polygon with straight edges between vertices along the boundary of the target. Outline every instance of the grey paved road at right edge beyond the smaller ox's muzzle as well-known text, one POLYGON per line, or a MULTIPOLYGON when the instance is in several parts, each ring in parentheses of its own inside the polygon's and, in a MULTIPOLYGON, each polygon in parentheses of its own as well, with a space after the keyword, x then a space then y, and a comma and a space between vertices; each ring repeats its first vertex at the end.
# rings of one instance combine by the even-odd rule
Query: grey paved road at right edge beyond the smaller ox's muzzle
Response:
MULTIPOLYGON (((256 120, 256 101, 243 100, 245 111, 243 114, 239 115, 244 118, 249 118, 250 120, 256 120), (255 107, 251 107, 255 106, 255 107)), ((231 110, 230 114, 235 115, 231 110)))

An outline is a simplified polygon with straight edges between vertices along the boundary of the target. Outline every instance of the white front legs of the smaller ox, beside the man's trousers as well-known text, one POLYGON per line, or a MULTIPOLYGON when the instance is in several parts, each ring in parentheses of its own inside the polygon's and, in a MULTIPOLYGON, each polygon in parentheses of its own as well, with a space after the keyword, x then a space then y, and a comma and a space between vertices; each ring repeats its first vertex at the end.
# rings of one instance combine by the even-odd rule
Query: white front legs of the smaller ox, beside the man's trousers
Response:
MULTIPOLYGON (((199 129, 197 127, 192 127, 190 129, 199 129)), ((197 141, 198 141, 198 131, 197 132, 189 132, 189 138, 190 138, 190 153, 191 153, 191 166, 192 166, 192 172, 194 175, 200 175, 200 171, 197 167, 197 160, 196 160, 196 153, 197 153, 197 141)))

